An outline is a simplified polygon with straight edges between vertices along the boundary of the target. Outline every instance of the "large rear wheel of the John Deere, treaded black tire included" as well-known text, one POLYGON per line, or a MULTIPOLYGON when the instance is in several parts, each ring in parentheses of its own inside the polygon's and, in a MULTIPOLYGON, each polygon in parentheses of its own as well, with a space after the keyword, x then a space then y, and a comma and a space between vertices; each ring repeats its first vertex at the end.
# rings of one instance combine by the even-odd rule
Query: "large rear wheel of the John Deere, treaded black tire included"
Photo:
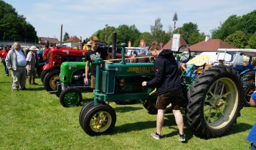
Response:
POLYGON ((240 116, 240 75, 229 67, 214 66, 197 76, 188 91, 187 119, 195 134, 222 136, 240 116))

